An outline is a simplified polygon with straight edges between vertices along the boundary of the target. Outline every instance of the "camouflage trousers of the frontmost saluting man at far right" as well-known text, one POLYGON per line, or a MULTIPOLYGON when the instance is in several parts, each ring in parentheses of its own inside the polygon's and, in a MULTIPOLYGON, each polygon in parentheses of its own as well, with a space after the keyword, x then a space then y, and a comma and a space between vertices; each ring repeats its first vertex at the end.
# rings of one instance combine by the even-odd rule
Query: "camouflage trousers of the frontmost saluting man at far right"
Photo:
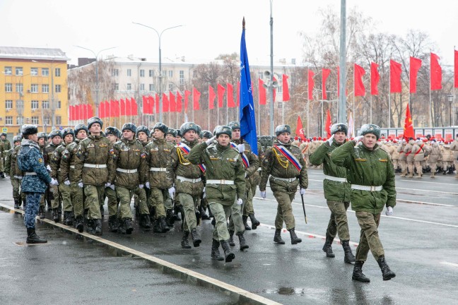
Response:
POLYGON ((375 261, 384 255, 382 242, 378 236, 377 227, 380 223, 380 213, 356 212, 358 224, 361 227, 360 242, 356 248, 356 261, 366 261, 369 250, 375 261))

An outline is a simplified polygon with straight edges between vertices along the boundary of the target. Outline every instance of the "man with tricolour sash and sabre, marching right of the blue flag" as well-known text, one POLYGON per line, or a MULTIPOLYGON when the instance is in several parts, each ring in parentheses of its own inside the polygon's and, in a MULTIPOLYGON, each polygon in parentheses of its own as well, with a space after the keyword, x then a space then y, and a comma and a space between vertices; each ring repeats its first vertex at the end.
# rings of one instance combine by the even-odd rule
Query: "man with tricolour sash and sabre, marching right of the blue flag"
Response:
POLYGON ((272 147, 267 148, 262 161, 259 191, 261 191, 262 198, 266 198, 267 179, 271 175, 270 187, 278 202, 274 241, 278 244, 285 244, 285 241, 281 239, 281 229, 285 222, 286 229, 290 232, 291 244, 298 244, 302 239, 295 234, 295 220, 291 203, 298 191, 298 186, 300 186, 300 195, 305 194, 305 189, 308 187, 307 169, 300 148, 290 143, 291 127, 278 125, 275 128, 275 134, 276 140, 272 143, 272 147))

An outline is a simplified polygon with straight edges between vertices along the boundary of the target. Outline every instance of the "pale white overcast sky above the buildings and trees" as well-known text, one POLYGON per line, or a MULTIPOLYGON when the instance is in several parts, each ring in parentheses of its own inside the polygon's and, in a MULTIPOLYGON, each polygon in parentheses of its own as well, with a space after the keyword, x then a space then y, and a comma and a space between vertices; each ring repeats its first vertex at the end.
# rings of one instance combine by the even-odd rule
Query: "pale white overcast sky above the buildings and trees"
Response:
MULTIPOLYGON (((298 32, 315 32, 319 8, 331 5, 340 10, 340 0, 274 0, 275 59, 302 61, 298 32)), ((185 56, 187 61, 211 61, 218 54, 240 51, 242 17, 246 20, 250 61, 269 62, 270 0, 1 0, 0 45, 59 48, 76 64, 78 57, 93 57, 81 45, 98 52, 117 47, 103 56, 146 57, 158 61, 159 32, 175 25, 162 37, 163 58, 185 56)), ((432 50, 442 64, 453 64, 458 47, 458 1, 368 1, 347 0, 377 21, 380 32, 404 35, 409 29, 423 30, 436 42, 432 50)))

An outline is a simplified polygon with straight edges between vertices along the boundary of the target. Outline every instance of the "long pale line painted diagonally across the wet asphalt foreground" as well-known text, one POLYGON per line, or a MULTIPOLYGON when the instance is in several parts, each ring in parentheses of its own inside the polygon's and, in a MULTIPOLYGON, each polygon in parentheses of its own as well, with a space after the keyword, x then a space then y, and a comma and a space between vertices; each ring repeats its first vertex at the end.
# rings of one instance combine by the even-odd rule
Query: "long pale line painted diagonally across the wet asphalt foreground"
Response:
MULTIPOLYGON (((10 205, 5 205, 4 203, 0 203, 0 207, 3 207, 5 209, 13 210, 15 212, 24 214, 23 210, 15 209, 15 208, 11 207, 10 205)), ((37 217, 37 220, 40 220, 40 217, 37 217)), ((107 246, 111 246, 113 248, 120 249, 120 250, 125 251, 127 253, 131 253, 134 256, 139 256, 139 257, 141 257, 143 259, 146 259, 147 261, 151 261, 151 262, 156 263, 158 265, 161 265, 163 267, 175 270, 175 271, 177 271, 179 273, 184 273, 185 275, 189 275, 190 277, 194 277, 195 280, 201 280, 201 281, 206 282, 206 283, 208 283, 210 285, 214 285, 214 286, 220 287, 222 289, 227 290, 228 292, 233 292, 233 293, 238 294, 240 296, 246 297, 247 299, 251 299, 253 301, 257 301, 257 302, 259 302, 261 304, 281 305, 280 303, 277 303, 276 301, 272 301, 270 299, 266 299, 265 297, 261 297, 261 296, 259 296, 257 294, 252 293, 252 292, 248 292, 248 291, 246 291, 244 289, 240 289, 239 287, 230 285, 230 284, 228 284, 226 282, 222 282, 221 280, 216 280, 213 277, 209 277, 209 276, 203 275, 201 273, 196 273, 195 271, 180 267, 180 265, 175 265, 174 263, 169 263, 168 261, 164 261, 164 260, 162 260, 160 258, 157 258, 155 256, 151 256, 151 255, 148 255, 146 253, 143 253, 143 252, 140 252, 140 251, 136 251, 136 250, 131 249, 131 248, 127 247, 127 246, 122 246, 122 244, 117 244, 117 243, 115 243, 113 241, 109 241, 107 239, 103 239, 102 237, 97 237, 95 235, 91 235, 91 234, 88 234, 86 232, 79 233, 77 229, 74 229, 72 227, 68 227, 66 225, 62 225, 59 222, 54 222, 52 220, 47 220, 47 219, 40 220, 40 222, 46 222, 49 225, 54 225, 56 227, 60 227, 61 229, 65 229, 67 231, 74 232, 76 234, 80 234, 80 235, 82 235, 82 236, 84 236, 84 237, 86 237, 88 239, 93 239, 95 241, 98 241, 98 242, 100 242, 100 244, 106 244, 107 246)))

